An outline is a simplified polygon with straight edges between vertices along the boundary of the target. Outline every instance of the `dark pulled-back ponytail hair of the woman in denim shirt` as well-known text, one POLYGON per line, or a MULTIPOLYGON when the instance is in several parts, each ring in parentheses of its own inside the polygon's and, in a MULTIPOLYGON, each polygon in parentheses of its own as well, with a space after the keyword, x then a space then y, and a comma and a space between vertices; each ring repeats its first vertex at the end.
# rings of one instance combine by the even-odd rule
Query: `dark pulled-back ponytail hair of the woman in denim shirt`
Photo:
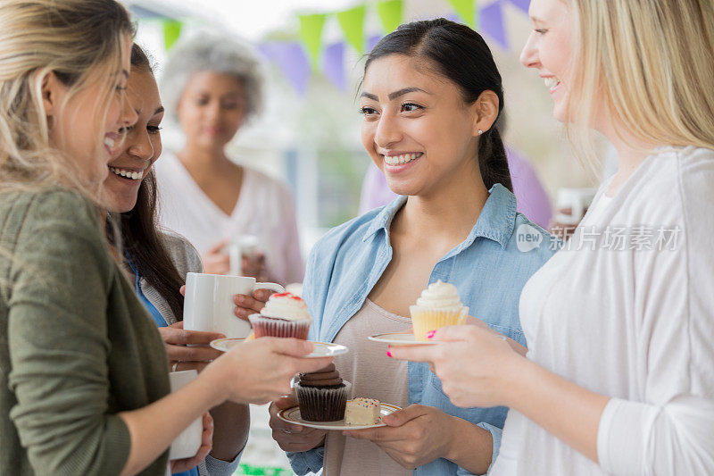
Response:
MULTIPOLYGON (((501 73, 484 38, 466 25, 444 18, 400 25, 368 54, 365 73, 370 63, 389 54, 427 59, 428 66, 461 89, 466 104, 476 102, 484 91, 493 91, 498 96, 499 115, 502 113, 501 73)), ((500 183, 512 192, 511 172, 497 122, 498 119, 478 139, 478 168, 487 189, 500 183)))

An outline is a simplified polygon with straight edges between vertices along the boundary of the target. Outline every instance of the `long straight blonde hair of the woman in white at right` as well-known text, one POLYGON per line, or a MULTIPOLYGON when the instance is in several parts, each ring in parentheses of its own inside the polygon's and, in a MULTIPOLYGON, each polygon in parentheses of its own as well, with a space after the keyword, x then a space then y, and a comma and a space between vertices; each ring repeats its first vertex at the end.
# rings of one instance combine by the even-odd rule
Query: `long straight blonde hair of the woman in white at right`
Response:
POLYGON ((714 3, 711 0, 562 0, 576 17, 569 138, 592 151, 604 99, 636 139, 714 149, 714 3))

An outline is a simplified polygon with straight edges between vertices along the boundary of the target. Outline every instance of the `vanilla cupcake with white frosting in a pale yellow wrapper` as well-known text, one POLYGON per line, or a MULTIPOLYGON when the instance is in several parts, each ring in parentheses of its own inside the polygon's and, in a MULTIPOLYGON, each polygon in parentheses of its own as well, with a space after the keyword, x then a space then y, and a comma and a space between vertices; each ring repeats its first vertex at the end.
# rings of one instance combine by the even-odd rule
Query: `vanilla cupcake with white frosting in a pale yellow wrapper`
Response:
POLYGON ((421 291, 417 304, 411 305, 409 310, 416 340, 428 340, 427 334, 431 330, 465 323, 469 313, 469 307, 461 303, 456 287, 442 280, 421 291))

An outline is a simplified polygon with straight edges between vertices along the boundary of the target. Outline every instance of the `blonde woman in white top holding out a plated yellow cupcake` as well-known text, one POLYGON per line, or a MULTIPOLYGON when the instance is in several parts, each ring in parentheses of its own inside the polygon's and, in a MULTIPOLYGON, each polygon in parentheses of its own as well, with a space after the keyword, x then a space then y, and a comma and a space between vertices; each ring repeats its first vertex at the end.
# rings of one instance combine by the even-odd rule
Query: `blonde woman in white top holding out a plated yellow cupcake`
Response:
POLYGON ((523 289, 527 358, 472 326, 392 355, 430 362, 455 405, 511 407, 489 474, 714 474, 714 4, 533 0, 530 15, 521 62, 619 170, 523 289))

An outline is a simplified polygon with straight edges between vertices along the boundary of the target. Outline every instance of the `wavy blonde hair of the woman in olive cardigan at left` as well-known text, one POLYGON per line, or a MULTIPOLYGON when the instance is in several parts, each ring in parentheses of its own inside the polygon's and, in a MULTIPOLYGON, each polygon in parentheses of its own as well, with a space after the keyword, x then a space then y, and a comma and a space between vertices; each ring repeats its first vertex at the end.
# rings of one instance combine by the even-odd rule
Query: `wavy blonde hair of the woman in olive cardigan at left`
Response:
POLYGON ((101 121, 133 32, 114 0, 0 0, 0 191, 60 183, 98 196, 99 188, 81 189, 75 161, 50 146, 42 85, 54 72, 69 88, 66 104, 103 81, 95 107, 101 121))

